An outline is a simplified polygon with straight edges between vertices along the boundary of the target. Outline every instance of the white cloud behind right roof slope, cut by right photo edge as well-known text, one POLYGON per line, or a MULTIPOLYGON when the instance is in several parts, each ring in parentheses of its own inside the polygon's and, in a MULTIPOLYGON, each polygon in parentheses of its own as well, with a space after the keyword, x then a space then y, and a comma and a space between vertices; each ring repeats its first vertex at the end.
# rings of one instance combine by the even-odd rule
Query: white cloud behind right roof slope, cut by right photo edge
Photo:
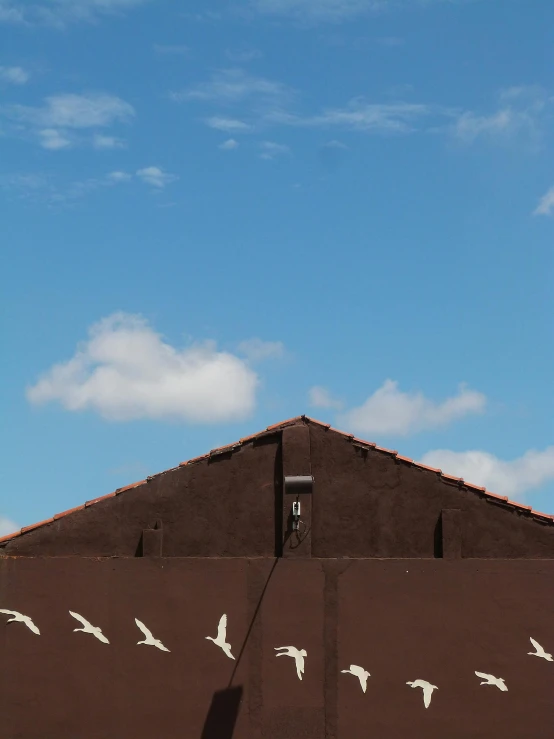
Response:
POLYGON ((435 449, 427 452, 421 462, 429 467, 437 467, 446 474, 463 477, 498 495, 516 499, 554 480, 554 446, 543 451, 531 449, 511 461, 483 451, 435 449))

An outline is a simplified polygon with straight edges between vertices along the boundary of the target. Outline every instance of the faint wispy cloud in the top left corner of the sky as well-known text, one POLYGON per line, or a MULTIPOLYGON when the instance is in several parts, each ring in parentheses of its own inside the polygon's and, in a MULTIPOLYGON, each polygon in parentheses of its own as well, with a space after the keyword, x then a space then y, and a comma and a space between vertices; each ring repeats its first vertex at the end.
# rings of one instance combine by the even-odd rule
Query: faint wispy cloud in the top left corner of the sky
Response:
POLYGON ((0 0, 0 23, 27 23, 63 28, 92 22, 143 5, 150 0, 0 0))

